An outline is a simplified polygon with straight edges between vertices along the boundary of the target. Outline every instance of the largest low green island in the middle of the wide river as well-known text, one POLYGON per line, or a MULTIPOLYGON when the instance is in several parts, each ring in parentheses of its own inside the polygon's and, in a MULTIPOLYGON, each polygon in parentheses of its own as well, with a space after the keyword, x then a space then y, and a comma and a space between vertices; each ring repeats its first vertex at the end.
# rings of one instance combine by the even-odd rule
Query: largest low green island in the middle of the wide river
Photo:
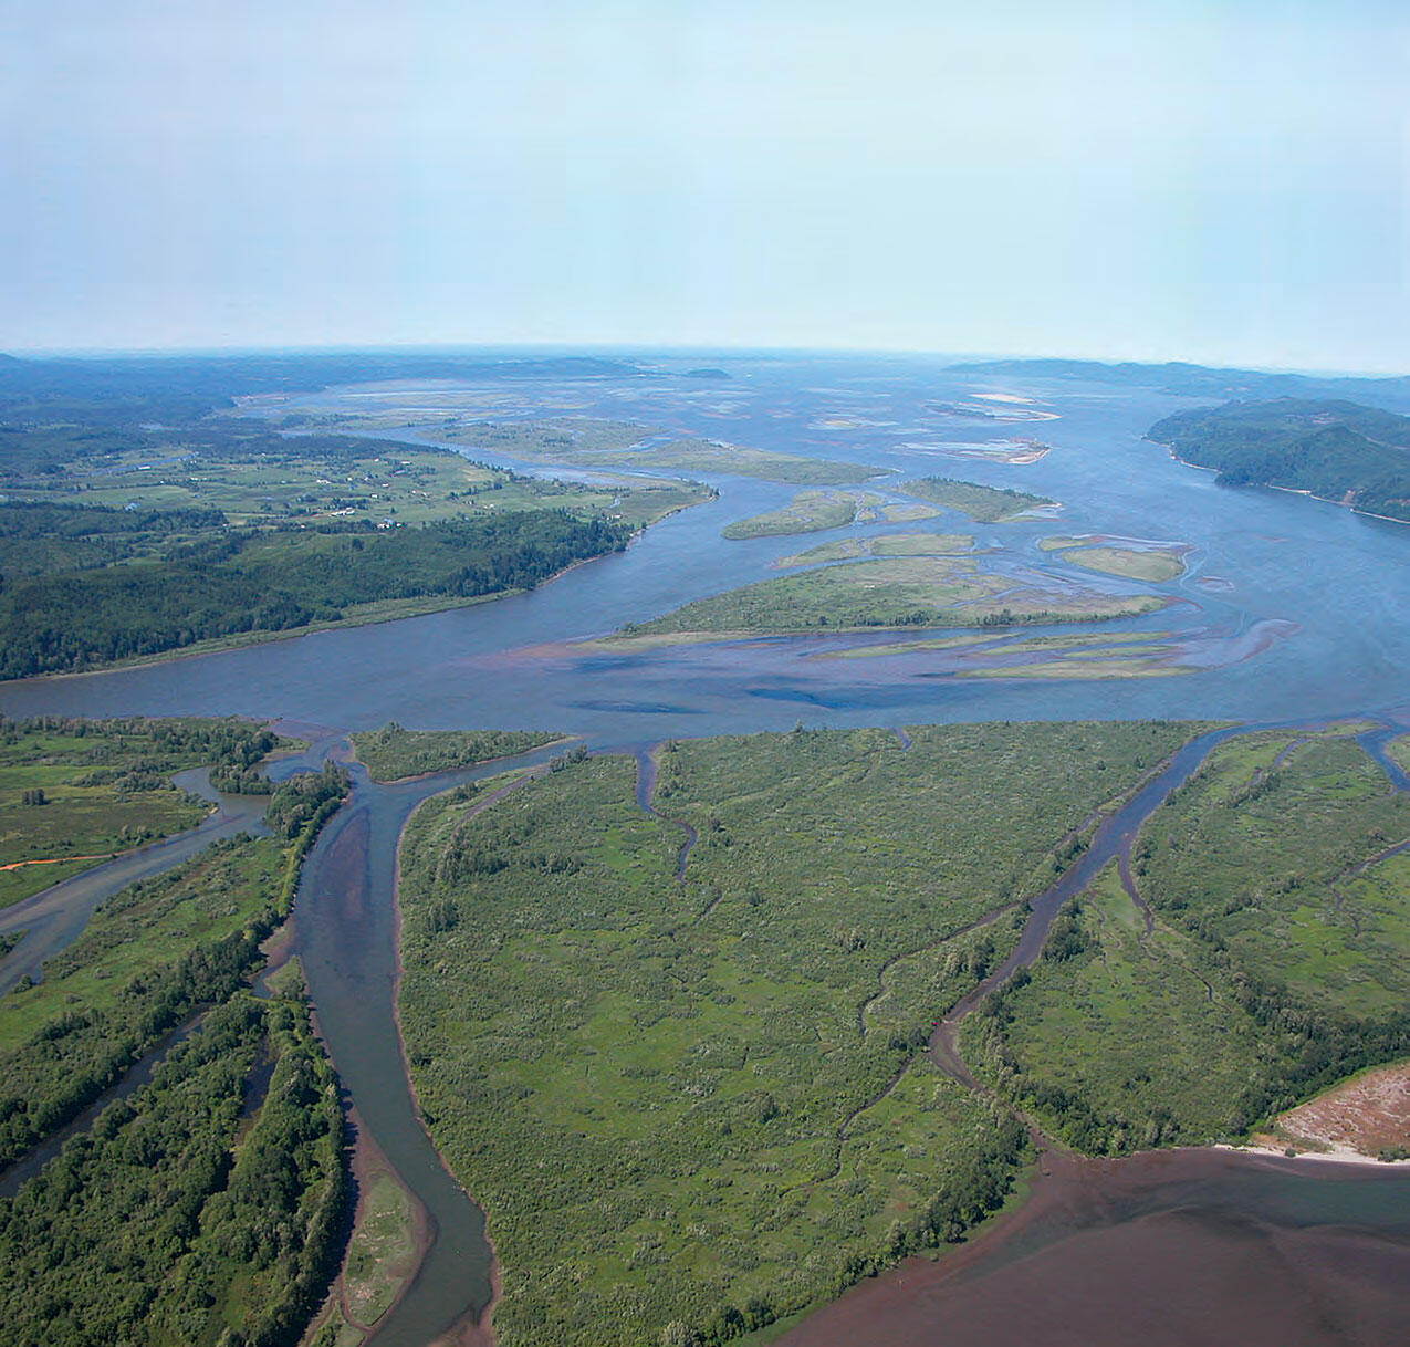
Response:
POLYGON ((1112 595, 1060 583, 1015 585, 967 559, 897 557, 763 580, 627 623, 622 635, 1007 626, 1138 616, 1165 602, 1153 594, 1112 595))

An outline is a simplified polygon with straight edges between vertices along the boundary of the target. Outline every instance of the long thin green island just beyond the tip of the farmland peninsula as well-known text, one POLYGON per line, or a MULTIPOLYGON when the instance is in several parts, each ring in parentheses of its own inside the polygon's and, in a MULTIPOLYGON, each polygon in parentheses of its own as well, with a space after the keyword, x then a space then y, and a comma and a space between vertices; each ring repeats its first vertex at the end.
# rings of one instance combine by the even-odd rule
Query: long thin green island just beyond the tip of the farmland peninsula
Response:
POLYGON ((454 420, 436 423, 436 437, 498 450, 529 461, 760 477, 802 487, 857 482, 885 473, 885 468, 864 463, 808 458, 722 440, 674 437, 658 427, 585 416, 516 422, 454 420))

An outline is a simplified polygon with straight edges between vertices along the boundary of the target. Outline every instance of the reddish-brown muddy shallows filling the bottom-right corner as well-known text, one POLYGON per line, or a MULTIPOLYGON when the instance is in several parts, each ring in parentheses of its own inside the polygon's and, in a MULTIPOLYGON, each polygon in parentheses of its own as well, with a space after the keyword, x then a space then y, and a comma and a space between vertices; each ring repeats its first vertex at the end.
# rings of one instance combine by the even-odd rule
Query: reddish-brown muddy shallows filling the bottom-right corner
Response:
POLYGON ((1410 1340, 1410 1175, 1215 1151, 1045 1155, 1032 1196, 788 1347, 1347 1347, 1410 1340))

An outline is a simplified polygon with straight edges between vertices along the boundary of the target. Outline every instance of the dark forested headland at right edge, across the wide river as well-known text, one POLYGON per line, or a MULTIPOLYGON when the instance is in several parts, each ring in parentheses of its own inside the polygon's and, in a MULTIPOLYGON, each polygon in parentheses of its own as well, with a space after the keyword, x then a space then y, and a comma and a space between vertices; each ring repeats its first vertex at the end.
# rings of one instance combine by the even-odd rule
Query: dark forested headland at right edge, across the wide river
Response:
POLYGON ((1356 402, 1230 402, 1176 412, 1148 437, 1231 485, 1310 491, 1410 520, 1410 417, 1356 402))

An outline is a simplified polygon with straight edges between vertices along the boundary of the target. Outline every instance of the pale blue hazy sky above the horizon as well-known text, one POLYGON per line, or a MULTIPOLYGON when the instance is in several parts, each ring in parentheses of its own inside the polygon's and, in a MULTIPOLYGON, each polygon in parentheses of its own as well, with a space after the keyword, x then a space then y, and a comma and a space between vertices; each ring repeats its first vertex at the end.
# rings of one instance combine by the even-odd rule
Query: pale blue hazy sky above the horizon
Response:
POLYGON ((1410 372, 1410 6, 8 0, 0 350, 1410 372))

